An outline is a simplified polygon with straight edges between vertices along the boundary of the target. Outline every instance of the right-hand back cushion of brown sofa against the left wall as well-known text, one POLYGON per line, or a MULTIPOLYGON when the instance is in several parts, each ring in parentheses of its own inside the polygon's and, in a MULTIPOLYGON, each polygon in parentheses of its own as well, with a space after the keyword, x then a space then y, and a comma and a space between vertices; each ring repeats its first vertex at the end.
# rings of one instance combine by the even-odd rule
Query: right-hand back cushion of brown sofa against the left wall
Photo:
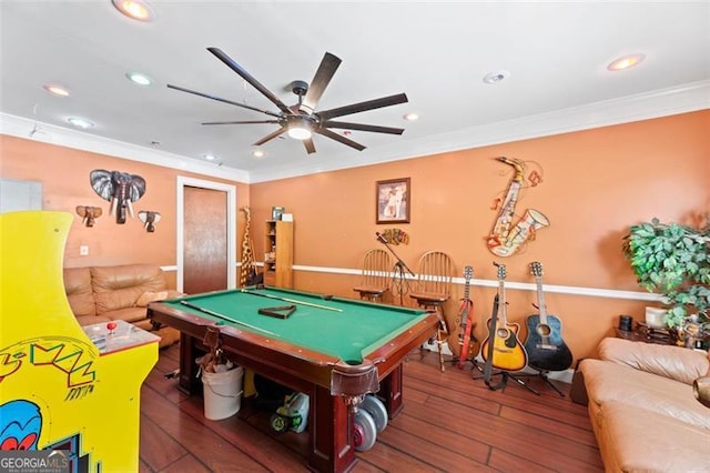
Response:
MULTIPOLYGON (((160 292, 168 289, 163 271, 160 266, 152 264, 92 266, 91 284, 98 314, 134 308, 135 302, 144 292, 160 292)), ((145 316, 145 311, 143 311, 143 316, 145 316)), ((123 320, 131 322, 128 319, 123 320)))

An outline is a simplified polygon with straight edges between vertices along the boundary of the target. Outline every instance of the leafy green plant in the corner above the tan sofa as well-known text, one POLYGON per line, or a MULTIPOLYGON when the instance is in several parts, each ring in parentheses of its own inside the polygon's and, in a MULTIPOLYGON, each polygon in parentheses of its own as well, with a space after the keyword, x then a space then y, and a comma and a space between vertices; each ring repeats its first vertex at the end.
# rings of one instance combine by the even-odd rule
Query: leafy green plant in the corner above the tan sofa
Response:
POLYGON ((658 219, 629 228, 623 254, 638 282, 658 292, 668 305, 666 323, 682 329, 689 315, 710 318, 710 221, 701 228, 661 223, 658 219))

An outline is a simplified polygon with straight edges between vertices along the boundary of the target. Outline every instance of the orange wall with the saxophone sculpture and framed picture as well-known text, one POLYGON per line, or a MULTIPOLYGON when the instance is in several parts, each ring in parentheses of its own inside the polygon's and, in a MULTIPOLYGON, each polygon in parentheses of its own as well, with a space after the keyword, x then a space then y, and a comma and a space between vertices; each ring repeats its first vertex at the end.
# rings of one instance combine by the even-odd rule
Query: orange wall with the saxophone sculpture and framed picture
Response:
MULTIPOLYGON (((474 278, 496 279, 493 261, 507 265, 507 281, 534 282, 528 263, 540 261, 546 284, 641 291, 623 260, 628 225, 658 217, 688 221, 710 209, 710 111, 687 113, 589 131, 517 141, 337 172, 253 184, 254 220, 272 205, 294 213, 295 264, 357 268, 365 250, 379 246, 374 232, 400 228, 410 236, 397 254, 416 271, 428 250, 452 254, 457 272, 471 264, 474 278), (516 212, 531 208, 550 221, 520 254, 496 258, 485 244, 498 214, 491 202, 505 194, 511 168, 506 155, 534 161, 544 171, 538 187, 525 190, 516 212), (375 224, 375 182, 412 179, 412 223, 375 224)), ((262 254, 255 240, 256 255, 262 254)), ((353 275, 297 271, 295 285, 353 296, 353 275)), ((458 309, 458 294, 447 305, 458 309)), ((485 336, 495 289, 475 286, 471 299, 485 336)), ((511 321, 534 312, 536 293, 507 291, 511 321)), ((577 358, 594 354, 612 333, 618 315, 642 320, 646 302, 588 295, 547 294, 548 312, 564 323, 562 334, 577 358)))

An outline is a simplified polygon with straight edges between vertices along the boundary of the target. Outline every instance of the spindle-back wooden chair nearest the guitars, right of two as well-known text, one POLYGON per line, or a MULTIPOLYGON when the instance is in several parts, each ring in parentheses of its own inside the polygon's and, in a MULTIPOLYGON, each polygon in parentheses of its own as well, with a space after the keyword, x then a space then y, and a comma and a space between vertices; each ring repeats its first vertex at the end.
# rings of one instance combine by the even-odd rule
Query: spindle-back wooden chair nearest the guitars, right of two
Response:
POLYGON ((417 281, 409 293, 409 296, 416 300, 420 308, 435 311, 439 318, 436 339, 432 341, 437 345, 442 371, 444 371, 442 345, 446 343, 446 338, 449 334, 444 314, 444 303, 452 296, 452 279, 455 270, 454 261, 448 254, 442 251, 424 253, 417 264, 417 281))

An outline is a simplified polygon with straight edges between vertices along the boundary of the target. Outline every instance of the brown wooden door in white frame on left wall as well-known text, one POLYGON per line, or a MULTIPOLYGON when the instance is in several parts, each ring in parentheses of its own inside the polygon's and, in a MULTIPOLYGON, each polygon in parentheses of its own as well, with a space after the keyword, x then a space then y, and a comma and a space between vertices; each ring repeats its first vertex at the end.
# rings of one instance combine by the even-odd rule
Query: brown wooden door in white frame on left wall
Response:
POLYGON ((227 289, 227 193, 186 185, 183 195, 183 291, 227 289))

